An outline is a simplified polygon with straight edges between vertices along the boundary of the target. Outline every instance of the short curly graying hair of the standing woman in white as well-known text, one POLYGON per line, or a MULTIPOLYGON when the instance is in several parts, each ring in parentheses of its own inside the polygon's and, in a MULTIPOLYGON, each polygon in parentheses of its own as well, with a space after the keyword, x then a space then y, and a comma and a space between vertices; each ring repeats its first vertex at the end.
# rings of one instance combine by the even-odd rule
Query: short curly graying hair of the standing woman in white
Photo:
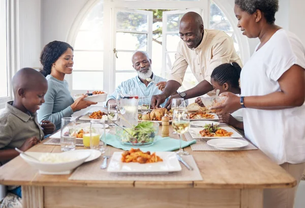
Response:
POLYGON ((279 10, 279 0, 235 0, 235 5, 249 14, 260 10, 268 24, 275 23, 275 15, 279 10))

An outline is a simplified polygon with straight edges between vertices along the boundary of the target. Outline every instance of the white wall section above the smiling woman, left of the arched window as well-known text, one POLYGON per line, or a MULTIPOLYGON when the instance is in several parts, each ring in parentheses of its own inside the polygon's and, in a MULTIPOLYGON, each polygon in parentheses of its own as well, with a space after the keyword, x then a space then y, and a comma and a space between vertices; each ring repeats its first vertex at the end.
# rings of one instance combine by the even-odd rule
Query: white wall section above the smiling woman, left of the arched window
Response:
POLYGON ((88 0, 42 0, 42 47, 57 40, 67 42, 77 14, 88 0))

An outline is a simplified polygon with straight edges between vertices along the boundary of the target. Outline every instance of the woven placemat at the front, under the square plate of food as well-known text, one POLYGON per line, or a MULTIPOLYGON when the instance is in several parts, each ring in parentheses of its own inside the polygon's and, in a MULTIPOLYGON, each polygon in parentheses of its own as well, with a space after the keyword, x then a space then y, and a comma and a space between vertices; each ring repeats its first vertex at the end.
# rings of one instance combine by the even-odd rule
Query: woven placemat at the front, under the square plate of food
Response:
MULTIPOLYGON (((117 151, 112 148, 112 150, 117 151)), ((112 155, 112 154, 111 154, 112 155)), ((80 181, 202 181, 202 176, 193 156, 184 156, 184 160, 194 170, 188 170, 180 163, 182 170, 168 174, 118 174, 101 169, 103 157, 79 166, 69 177, 69 180, 80 181)), ((108 159, 108 164, 111 158, 108 159)))

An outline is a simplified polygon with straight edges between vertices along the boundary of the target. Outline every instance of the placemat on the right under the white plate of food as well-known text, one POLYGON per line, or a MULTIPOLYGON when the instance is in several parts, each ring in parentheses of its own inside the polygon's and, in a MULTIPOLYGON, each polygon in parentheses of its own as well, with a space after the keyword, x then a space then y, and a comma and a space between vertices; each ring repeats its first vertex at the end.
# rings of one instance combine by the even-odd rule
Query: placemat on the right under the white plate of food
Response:
MULTIPOLYGON (((189 132, 185 133, 185 136, 188 141, 196 140, 196 143, 191 144, 191 148, 193 151, 229 151, 229 150, 219 150, 214 146, 210 146, 206 143, 204 139, 194 139, 189 132)), ((245 138, 234 138, 234 139, 241 139, 247 141, 245 138)), ((241 151, 241 150, 257 150, 257 147, 249 142, 248 146, 241 147, 238 150, 234 150, 234 151, 241 151)))

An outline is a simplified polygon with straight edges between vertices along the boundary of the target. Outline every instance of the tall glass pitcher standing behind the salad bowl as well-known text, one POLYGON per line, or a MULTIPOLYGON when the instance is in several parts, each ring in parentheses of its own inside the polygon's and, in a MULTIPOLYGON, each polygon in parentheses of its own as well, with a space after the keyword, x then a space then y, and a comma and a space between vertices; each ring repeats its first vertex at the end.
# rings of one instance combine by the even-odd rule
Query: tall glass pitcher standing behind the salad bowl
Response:
POLYGON ((121 126, 130 128, 130 124, 138 125, 138 103, 139 96, 137 95, 122 94, 121 92, 117 94, 116 106, 120 111, 120 116, 123 117, 123 119, 120 119, 121 126), (127 120, 130 124, 124 120, 127 120))

